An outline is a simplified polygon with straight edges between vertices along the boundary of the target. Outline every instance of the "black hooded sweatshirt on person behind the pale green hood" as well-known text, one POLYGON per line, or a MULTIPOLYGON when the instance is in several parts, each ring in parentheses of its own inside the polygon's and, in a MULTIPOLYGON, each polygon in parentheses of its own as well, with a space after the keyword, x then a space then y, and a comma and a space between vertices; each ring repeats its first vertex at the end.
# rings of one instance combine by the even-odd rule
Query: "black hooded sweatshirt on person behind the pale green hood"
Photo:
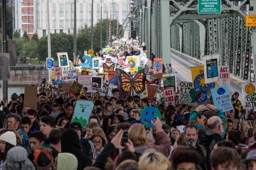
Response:
POLYGON ((62 133, 60 141, 62 153, 72 153, 77 158, 77 170, 83 170, 86 166, 90 166, 92 164, 90 157, 83 154, 81 151, 79 146, 79 137, 74 129, 66 129, 62 133))

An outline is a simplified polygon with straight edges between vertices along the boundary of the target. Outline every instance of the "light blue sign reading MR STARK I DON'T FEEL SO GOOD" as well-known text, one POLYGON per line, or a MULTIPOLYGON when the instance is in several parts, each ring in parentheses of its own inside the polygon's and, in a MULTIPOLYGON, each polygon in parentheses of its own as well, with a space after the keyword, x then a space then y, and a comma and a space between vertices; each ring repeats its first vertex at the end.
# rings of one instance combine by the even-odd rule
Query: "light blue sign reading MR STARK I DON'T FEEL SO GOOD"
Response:
POLYGON ((213 103, 217 109, 221 110, 222 112, 233 110, 228 85, 211 89, 211 93, 213 96, 213 103))

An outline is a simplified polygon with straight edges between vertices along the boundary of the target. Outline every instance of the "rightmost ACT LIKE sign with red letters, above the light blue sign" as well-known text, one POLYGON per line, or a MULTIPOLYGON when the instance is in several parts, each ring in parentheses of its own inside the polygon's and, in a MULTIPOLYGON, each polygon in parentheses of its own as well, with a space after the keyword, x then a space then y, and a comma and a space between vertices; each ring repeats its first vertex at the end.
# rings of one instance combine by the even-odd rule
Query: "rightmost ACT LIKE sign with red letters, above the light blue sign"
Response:
POLYGON ((219 76, 219 83, 218 83, 219 86, 228 85, 228 87, 230 87, 229 66, 220 65, 219 66, 219 71, 218 71, 218 76, 219 76))

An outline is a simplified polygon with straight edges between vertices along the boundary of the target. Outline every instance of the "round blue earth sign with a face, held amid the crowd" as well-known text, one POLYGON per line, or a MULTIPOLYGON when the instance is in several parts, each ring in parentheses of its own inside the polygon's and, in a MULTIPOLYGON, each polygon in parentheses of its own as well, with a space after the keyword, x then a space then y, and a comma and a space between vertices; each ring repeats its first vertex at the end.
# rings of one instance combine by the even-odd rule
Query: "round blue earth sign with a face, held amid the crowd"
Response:
POLYGON ((156 107, 147 106, 141 111, 141 122, 147 127, 154 127, 151 123, 152 118, 162 119, 160 111, 156 107))

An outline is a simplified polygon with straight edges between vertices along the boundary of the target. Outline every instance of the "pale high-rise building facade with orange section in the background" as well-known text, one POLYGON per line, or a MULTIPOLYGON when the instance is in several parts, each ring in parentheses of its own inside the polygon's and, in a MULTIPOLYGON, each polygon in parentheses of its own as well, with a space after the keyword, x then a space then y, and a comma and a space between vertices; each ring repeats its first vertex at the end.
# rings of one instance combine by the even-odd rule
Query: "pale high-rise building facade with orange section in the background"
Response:
MULTIPOLYGON (((130 12, 131 0, 93 0, 93 24, 100 20, 102 6, 102 19, 110 18, 112 5, 112 19, 124 23, 130 12)), ((50 32, 73 33, 74 28, 74 1, 49 0, 50 32)), ((92 0, 76 0, 77 30, 85 25, 91 25, 92 0)), ((129 22, 127 19, 126 22, 129 22)), ((38 33, 39 37, 47 33, 47 0, 15 0, 15 30, 22 36, 27 32, 29 37, 38 33)), ((128 26, 130 24, 128 23, 128 26)), ((124 31, 124 37, 129 37, 129 27, 124 31)))

